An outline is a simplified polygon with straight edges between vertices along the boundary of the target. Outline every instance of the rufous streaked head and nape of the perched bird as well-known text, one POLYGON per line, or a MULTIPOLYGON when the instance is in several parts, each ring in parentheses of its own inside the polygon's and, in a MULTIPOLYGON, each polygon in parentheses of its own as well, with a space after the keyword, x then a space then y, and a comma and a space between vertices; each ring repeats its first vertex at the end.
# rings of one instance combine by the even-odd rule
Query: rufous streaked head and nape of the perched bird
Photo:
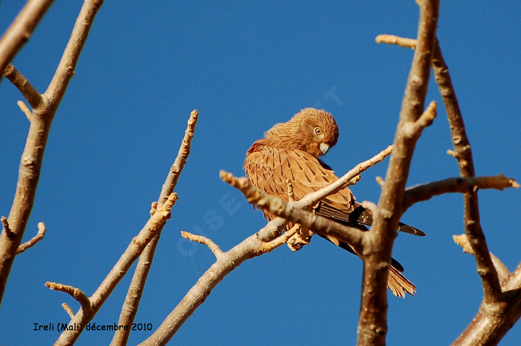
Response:
POLYGON ((325 110, 304 108, 289 121, 269 129, 265 138, 278 140, 279 147, 302 150, 318 158, 337 144, 338 125, 325 110))

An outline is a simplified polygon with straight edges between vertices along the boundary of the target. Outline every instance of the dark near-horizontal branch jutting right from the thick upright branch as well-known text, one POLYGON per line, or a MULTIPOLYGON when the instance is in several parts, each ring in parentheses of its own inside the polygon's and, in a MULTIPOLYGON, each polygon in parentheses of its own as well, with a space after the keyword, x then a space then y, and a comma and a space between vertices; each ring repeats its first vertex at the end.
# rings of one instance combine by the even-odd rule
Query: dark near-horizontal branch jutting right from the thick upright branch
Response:
POLYGON ((500 174, 494 177, 468 177, 449 178, 421 184, 405 190, 403 210, 421 201, 430 200, 431 197, 449 192, 467 193, 475 189, 519 188, 519 184, 513 178, 506 178, 500 174))

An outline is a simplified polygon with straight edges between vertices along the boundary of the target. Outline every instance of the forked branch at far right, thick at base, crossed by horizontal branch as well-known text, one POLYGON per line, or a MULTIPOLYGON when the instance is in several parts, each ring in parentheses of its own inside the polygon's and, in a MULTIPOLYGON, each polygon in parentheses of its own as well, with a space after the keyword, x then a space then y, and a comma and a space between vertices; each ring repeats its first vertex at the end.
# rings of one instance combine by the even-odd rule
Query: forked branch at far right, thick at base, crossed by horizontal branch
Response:
MULTIPOLYGON (((393 43, 415 48, 417 41, 398 36, 380 35, 377 42, 393 43)), ((463 117, 452 85, 449 68, 445 64, 438 40, 432 56, 432 68, 449 118, 454 150, 448 153, 457 159, 463 179, 475 176, 472 150, 465 131, 463 117)), ((503 179, 504 177, 501 177, 503 179)), ((477 179, 477 178, 476 178, 477 179)), ((514 181, 512 187, 518 187, 514 181)), ((508 270, 493 256, 487 246, 479 222, 478 196, 475 189, 464 195, 464 228, 467 252, 472 253, 485 298, 472 323, 453 345, 497 344, 521 315, 521 264, 507 278, 508 270)), ((461 238, 456 238, 463 242, 461 238)), ((455 240, 456 240, 455 239, 455 240)))

